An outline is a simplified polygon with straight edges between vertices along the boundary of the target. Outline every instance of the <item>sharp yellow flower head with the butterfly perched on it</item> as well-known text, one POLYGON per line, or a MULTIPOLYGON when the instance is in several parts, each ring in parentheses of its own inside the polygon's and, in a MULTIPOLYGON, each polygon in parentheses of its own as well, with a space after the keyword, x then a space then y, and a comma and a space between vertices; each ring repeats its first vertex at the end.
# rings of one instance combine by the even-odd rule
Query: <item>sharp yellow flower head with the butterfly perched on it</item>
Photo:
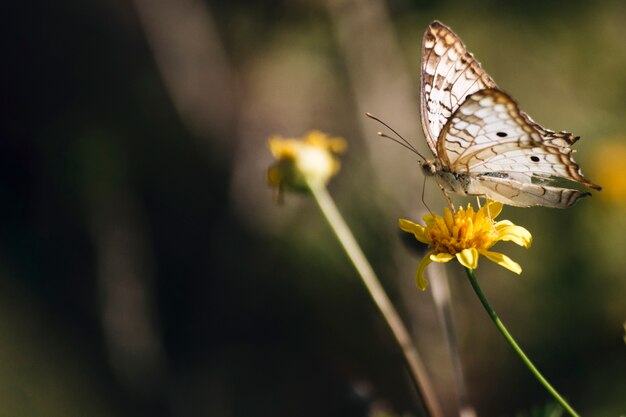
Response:
POLYGON ((467 209, 459 208, 452 213, 444 209, 443 217, 436 214, 424 216, 426 226, 400 219, 400 229, 413 233, 415 238, 427 244, 432 250, 424 256, 417 267, 417 287, 425 290, 428 281, 424 269, 431 262, 448 262, 456 258, 461 265, 476 269, 480 255, 503 266, 516 274, 522 268, 508 256, 490 252, 488 249, 498 241, 511 241, 525 248, 532 242, 530 232, 508 220, 495 222, 502 211, 502 203, 487 201, 477 212, 468 204, 467 209))

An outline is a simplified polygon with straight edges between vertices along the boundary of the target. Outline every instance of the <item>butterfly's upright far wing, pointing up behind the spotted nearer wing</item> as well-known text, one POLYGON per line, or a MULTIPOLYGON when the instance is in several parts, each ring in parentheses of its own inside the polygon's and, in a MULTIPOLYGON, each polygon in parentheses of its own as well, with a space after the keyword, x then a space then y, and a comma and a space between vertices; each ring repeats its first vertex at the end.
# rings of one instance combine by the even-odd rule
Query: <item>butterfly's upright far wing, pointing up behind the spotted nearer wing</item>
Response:
POLYGON ((449 27, 433 22, 422 41, 420 113, 426 142, 435 156, 440 132, 465 98, 496 83, 449 27))

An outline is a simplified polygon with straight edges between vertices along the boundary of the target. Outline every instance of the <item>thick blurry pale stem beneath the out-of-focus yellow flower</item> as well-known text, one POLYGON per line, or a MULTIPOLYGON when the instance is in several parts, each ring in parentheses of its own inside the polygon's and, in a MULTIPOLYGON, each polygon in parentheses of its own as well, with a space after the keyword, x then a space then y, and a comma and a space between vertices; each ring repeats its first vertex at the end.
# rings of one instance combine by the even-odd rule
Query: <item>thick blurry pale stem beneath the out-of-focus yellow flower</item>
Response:
POLYGON ((426 373, 426 368, 422 363, 422 359, 420 358, 417 348, 411 341, 411 337, 409 336, 406 326, 389 300, 389 297, 376 277, 374 270, 365 258, 363 251, 354 239, 352 232, 350 232, 350 229, 346 225, 341 213, 339 213, 339 210, 337 209, 337 206, 335 206, 331 196, 328 194, 326 187, 323 185, 314 186, 309 184, 309 188, 311 189, 317 204, 322 210, 324 217, 330 224, 330 227, 337 236, 337 239, 352 261, 352 264, 359 273, 363 283, 372 296, 372 299, 376 303, 376 306, 389 325, 389 328, 395 336, 398 345, 402 349, 404 358, 411 371, 413 382, 416 384, 418 392, 423 394, 424 405, 427 412, 432 417, 443 417, 443 412, 437 401, 435 390, 432 387, 430 378, 426 373))

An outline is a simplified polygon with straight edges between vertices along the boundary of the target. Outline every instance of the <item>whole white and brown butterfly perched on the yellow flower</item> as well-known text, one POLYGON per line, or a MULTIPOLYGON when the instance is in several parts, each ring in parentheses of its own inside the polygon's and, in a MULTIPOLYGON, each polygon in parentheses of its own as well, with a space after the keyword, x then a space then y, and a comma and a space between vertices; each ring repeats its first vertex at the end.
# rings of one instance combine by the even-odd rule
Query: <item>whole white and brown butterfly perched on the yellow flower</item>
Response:
POLYGON ((601 189, 572 158, 570 146, 579 137, 535 123, 438 21, 424 34, 420 96, 422 127, 435 156, 420 165, 448 202, 448 193, 455 193, 518 207, 567 208, 591 193, 555 182, 601 189))

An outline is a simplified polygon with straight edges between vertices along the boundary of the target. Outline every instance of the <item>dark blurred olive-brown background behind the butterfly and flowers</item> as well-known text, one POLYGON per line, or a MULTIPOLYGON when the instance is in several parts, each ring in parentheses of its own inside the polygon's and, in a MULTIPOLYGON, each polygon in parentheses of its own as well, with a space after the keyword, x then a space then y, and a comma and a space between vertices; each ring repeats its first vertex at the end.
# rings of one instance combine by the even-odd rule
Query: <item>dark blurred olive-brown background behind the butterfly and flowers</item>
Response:
MULTIPOLYGON (((585 416, 626 413, 626 5, 620 1, 58 0, 5 8, 0 415, 419 414, 402 356, 314 202, 266 186, 266 139, 321 129, 330 191, 412 329, 447 416, 450 360, 417 291, 421 37, 439 19, 535 120, 582 136, 605 189, 506 208, 534 235, 482 262, 494 307, 585 416)), ((433 183, 426 202, 440 211, 433 183)), ((459 201, 461 202, 461 201, 459 201)), ((547 393, 448 268, 469 400, 547 393)))

